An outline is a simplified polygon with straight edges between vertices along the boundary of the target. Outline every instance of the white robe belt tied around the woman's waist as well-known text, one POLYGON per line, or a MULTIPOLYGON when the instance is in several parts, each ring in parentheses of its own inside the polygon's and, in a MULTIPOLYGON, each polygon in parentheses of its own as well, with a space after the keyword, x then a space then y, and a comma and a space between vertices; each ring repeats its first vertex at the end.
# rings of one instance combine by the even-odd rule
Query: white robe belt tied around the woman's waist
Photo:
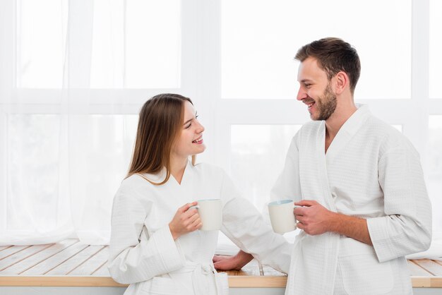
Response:
POLYGON ((195 295, 208 294, 207 279, 212 279, 212 277, 215 279, 217 294, 224 294, 222 288, 223 286, 221 282, 219 282, 219 279, 221 279, 221 277, 218 276, 218 273, 216 272, 213 264, 194 263, 187 261, 184 267, 179 270, 175 270, 174 272, 170 272, 170 275, 189 272, 192 273, 193 292, 195 293, 195 295))

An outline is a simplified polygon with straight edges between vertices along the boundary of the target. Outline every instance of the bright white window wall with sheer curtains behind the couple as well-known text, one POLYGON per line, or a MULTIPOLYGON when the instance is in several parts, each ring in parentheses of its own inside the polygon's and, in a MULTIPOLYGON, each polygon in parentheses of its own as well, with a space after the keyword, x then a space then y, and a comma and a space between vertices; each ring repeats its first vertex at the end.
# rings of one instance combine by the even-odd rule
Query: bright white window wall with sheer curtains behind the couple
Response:
POLYGON ((359 52, 355 100, 419 151, 442 231, 442 2, 438 0, 0 0, 0 244, 75 234, 107 243, 137 114, 192 98, 198 157, 259 210, 294 133, 294 55, 321 37, 359 52))

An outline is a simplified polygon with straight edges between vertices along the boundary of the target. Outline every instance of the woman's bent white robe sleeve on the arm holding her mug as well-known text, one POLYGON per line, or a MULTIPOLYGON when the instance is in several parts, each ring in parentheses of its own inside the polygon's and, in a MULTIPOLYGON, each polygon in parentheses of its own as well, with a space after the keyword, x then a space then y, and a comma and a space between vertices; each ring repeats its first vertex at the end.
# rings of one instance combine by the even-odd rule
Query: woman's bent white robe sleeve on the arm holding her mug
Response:
POLYGON ((143 231, 150 207, 147 202, 137 198, 135 191, 119 191, 114 198, 108 268, 121 284, 146 281, 185 264, 168 225, 141 238, 147 236, 143 231))

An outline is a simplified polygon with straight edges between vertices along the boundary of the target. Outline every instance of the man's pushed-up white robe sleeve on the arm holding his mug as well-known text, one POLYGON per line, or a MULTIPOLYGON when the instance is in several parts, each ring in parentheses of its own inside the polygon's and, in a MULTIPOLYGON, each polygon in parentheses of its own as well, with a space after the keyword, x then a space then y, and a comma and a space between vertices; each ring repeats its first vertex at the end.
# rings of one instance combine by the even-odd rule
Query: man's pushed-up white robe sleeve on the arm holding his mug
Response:
POLYGON ((408 140, 381 155, 378 181, 386 216, 367 219, 367 225, 379 262, 428 249, 431 203, 419 155, 408 140))

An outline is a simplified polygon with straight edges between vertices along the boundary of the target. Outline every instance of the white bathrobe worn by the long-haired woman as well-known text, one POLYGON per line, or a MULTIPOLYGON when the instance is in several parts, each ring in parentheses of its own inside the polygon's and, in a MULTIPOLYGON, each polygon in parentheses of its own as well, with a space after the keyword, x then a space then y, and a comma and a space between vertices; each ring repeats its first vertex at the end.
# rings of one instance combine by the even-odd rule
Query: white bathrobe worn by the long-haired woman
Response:
MULTIPOLYGON (((144 176, 158 182, 165 171, 144 176)), ((114 197, 108 267, 115 281, 130 284, 124 294, 227 294, 227 276, 212 263, 218 231, 197 230, 176 241, 169 231, 177 209, 201 199, 222 200, 221 231, 239 248, 288 272, 292 244, 273 233, 222 169, 188 162, 181 185, 173 176, 154 186, 133 175, 114 197)))

